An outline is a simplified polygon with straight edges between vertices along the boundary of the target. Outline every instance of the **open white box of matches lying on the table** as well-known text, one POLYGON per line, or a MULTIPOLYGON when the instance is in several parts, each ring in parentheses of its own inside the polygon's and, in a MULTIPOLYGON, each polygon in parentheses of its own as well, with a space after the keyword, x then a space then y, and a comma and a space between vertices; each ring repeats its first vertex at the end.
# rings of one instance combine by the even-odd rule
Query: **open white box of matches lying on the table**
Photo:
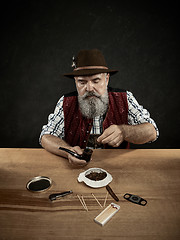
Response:
POLYGON ((119 211, 119 209, 119 205, 111 203, 94 219, 94 221, 101 226, 104 226, 104 224, 106 224, 112 216, 119 211))

